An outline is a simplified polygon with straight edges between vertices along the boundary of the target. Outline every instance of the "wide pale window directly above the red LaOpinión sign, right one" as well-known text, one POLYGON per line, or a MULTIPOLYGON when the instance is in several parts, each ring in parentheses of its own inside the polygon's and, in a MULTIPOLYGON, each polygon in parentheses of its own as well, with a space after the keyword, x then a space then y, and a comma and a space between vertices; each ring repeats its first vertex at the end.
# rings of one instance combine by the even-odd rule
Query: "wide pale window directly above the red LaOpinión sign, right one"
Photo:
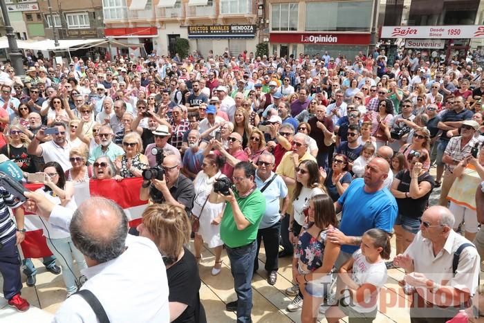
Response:
POLYGON ((306 31, 369 31, 371 0, 307 2, 306 31))

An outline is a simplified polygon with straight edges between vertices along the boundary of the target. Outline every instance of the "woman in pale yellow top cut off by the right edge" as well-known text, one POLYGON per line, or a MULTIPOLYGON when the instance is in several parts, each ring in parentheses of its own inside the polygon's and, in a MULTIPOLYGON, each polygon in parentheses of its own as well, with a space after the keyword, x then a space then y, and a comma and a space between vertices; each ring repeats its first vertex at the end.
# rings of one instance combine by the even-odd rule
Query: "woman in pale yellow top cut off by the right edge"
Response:
POLYGON ((454 230, 464 220, 465 238, 473 241, 479 230, 475 191, 477 185, 484 180, 484 149, 482 147, 477 158, 469 155, 458 163, 454 169, 454 178, 456 181, 447 194, 447 199, 450 201, 449 210, 456 218, 454 230))

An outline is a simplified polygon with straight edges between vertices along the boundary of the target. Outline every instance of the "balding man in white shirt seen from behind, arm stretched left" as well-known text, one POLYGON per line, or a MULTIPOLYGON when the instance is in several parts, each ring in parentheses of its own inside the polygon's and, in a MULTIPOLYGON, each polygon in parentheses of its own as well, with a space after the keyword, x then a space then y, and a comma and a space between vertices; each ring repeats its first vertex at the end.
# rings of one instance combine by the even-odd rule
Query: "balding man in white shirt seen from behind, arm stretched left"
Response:
POLYGON ((100 302, 109 322, 169 322, 165 264, 155 244, 128 234, 128 219, 119 205, 101 197, 88 199, 73 213, 44 196, 27 192, 28 209, 49 223, 70 230, 73 243, 86 258, 88 280, 55 313, 55 323, 98 322, 85 291, 100 302), (146 268, 151 270, 147 275, 146 268), (88 292, 88 293, 89 293, 88 292))

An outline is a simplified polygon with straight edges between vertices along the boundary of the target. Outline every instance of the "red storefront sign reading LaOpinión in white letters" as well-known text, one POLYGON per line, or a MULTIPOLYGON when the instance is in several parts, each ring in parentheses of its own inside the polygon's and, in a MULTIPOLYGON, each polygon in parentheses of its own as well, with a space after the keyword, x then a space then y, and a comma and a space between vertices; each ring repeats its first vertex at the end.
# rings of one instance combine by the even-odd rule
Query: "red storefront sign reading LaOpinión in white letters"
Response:
POLYGON ((370 34, 351 33, 270 33, 271 43, 368 45, 370 34))

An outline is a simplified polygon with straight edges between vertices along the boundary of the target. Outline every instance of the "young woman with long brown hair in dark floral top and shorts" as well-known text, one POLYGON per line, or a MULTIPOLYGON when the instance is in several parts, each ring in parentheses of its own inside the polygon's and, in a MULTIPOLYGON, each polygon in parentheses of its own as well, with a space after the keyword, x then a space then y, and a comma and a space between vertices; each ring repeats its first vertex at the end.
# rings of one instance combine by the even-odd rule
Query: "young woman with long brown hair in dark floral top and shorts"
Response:
POLYGON ((308 228, 299 235, 292 260, 292 276, 304 299, 301 322, 316 322, 319 305, 331 286, 340 246, 326 240, 326 232, 336 228, 333 199, 318 194, 309 200, 308 228))

